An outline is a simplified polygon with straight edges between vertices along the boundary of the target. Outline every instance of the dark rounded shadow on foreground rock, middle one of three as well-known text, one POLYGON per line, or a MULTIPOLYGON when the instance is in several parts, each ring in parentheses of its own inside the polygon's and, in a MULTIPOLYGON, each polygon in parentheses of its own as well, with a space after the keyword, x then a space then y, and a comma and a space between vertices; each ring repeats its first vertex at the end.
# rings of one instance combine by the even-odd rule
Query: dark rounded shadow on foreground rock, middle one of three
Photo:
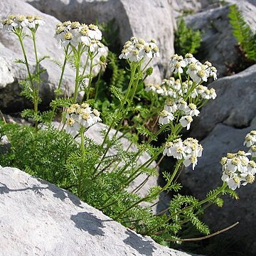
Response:
POLYGON ((75 227, 80 230, 87 231, 90 235, 104 235, 105 232, 102 228, 105 228, 103 222, 105 220, 101 220, 97 218, 92 213, 78 213, 76 215, 71 215, 71 220, 75 223, 75 227))

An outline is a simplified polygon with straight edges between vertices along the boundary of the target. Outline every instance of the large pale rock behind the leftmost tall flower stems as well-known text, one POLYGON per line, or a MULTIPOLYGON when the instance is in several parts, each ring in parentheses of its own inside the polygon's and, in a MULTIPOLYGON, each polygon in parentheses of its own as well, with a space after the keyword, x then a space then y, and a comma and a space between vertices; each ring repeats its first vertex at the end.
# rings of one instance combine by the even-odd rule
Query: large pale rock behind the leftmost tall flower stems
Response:
MULTIPOLYGON (((44 55, 50 55, 51 58, 63 63, 64 54, 62 48, 58 46, 57 41, 53 38, 55 25, 59 23, 58 19, 41 13, 21 0, 0 1, 0 19, 6 18, 9 14, 33 14, 39 15, 46 21, 44 26, 38 28, 36 33, 38 58, 44 55)), ((28 56, 30 68, 35 68, 35 56, 33 52, 33 43, 30 39, 24 40, 24 46, 28 56)), ((21 87, 18 80, 27 76, 25 65, 14 63, 16 59, 23 59, 21 46, 18 38, 13 33, 0 30, 0 108, 4 112, 18 112, 28 107, 30 104, 24 97, 20 96, 21 87)), ((100 58, 100 56, 99 56, 100 58)), ((65 95, 71 95, 75 87, 75 71, 70 65, 66 66, 63 84, 61 89, 65 95)), ((46 59, 41 62, 41 68, 46 69, 42 78, 44 80, 41 86, 41 97, 43 105, 47 106, 54 97, 54 90, 58 87, 60 78, 60 68, 55 63, 46 59)), ((95 67, 97 73, 99 68, 95 67)))

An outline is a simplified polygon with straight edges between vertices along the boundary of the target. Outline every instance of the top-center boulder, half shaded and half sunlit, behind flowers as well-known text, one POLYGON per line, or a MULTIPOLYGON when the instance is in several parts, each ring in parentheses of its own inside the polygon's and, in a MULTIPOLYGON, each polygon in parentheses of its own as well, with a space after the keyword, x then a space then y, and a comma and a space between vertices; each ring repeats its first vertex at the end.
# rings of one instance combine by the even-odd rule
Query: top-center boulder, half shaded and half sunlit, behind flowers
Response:
POLYGON ((174 54, 174 19, 168 0, 26 1, 60 21, 78 20, 82 23, 95 23, 96 20, 107 22, 114 18, 119 27, 121 45, 124 45, 131 36, 139 36, 146 41, 155 38, 159 42, 161 57, 153 63, 153 82, 161 80, 160 76, 166 72, 169 58, 174 54))

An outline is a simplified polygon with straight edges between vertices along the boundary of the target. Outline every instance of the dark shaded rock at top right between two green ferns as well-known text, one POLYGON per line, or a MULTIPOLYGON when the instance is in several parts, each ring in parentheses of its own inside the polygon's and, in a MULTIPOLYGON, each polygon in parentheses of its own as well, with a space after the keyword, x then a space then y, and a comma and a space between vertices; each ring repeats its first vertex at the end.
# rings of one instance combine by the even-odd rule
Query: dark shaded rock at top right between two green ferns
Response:
MULTIPOLYGON (((256 6, 247 1, 228 1, 238 4, 245 21, 252 31, 256 28, 256 6)), ((229 6, 210 9, 198 14, 186 16, 186 23, 203 33, 203 41, 198 52, 198 59, 209 60, 218 70, 218 76, 230 74, 230 67, 240 63, 240 56, 235 46, 238 45, 232 33, 228 18, 229 6)))

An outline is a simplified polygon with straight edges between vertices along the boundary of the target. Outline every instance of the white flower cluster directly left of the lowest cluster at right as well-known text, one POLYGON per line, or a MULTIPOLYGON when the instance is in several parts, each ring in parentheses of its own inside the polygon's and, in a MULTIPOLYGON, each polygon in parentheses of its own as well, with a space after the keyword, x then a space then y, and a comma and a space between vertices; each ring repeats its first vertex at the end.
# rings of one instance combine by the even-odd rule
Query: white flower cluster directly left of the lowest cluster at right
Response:
POLYGON ((163 154, 173 156, 175 159, 183 159, 184 166, 190 166, 192 169, 198 162, 198 157, 202 156, 203 146, 198 144, 197 139, 188 138, 185 141, 175 139, 174 142, 166 142, 163 154))

